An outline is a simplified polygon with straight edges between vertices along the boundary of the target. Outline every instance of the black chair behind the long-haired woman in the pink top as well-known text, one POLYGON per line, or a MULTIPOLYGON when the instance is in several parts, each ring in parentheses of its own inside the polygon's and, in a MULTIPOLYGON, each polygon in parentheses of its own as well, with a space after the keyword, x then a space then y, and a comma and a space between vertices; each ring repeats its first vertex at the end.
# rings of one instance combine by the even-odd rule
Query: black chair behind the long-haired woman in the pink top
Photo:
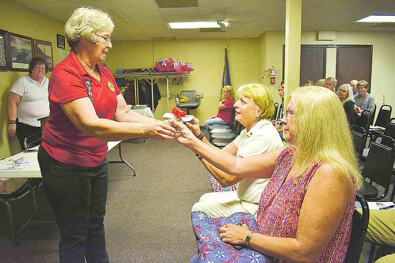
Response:
POLYGON ((362 213, 359 213, 357 209, 354 210, 353 226, 351 228, 350 243, 347 248, 345 263, 358 263, 363 241, 365 240, 366 229, 369 224, 369 207, 366 200, 359 194, 356 194, 355 200, 360 203, 362 213))

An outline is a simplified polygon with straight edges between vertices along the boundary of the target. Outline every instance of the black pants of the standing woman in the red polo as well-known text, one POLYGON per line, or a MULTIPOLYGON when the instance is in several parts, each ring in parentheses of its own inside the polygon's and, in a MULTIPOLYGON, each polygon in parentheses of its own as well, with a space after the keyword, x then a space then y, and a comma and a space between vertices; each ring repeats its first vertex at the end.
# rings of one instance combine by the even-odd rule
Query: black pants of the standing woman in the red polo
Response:
POLYGON ((109 167, 79 167, 53 159, 40 146, 42 186, 60 230, 61 263, 108 263, 104 216, 109 167))

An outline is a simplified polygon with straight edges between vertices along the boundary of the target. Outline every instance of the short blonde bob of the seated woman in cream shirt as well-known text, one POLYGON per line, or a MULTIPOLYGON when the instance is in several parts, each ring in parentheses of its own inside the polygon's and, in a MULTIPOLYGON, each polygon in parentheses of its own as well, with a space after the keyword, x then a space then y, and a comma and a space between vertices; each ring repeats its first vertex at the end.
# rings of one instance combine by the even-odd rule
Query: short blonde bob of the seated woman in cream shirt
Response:
POLYGON ((262 107, 262 113, 258 116, 259 119, 271 118, 275 113, 272 92, 264 85, 259 83, 242 85, 237 89, 237 95, 240 94, 246 98, 252 98, 257 110, 258 107, 262 107))

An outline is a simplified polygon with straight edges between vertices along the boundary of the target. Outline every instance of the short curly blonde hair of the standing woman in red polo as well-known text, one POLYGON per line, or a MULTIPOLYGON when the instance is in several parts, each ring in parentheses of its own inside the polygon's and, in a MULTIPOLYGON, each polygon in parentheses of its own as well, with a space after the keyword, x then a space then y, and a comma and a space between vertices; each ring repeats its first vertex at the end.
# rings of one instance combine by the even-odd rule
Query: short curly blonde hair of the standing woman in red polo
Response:
POLYGON ((114 27, 113 20, 106 12, 90 6, 79 7, 66 22, 65 36, 69 46, 74 47, 80 38, 98 42, 96 32, 108 31, 111 35, 114 27))

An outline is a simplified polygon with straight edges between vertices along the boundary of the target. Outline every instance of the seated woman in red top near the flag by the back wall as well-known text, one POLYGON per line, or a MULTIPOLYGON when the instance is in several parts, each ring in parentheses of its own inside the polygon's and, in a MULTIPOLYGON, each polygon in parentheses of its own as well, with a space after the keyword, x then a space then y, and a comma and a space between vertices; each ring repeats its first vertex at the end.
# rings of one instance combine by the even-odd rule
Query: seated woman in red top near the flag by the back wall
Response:
POLYGON ((206 131, 208 133, 208 126, 211 124, 229 124, 232 122, 235 108, 235 100, 233 99, 234 91, 232 86, 224 86, 224 99, 219 102, 218 113, 204 122, 206 131))

